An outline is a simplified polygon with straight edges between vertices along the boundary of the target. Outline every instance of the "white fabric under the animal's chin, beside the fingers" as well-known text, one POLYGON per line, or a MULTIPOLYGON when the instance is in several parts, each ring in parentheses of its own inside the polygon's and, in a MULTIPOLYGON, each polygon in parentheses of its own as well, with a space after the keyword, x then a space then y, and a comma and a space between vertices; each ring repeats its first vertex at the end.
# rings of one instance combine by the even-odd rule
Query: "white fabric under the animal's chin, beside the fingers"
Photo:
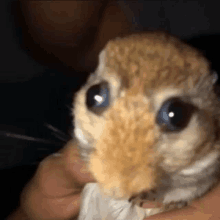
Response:
POLYGON ((78 220, 143 220, 150 212, 150 209, 134 206, 127 200, 103 196, 97 183, 88 183, 82 192, 78 220))

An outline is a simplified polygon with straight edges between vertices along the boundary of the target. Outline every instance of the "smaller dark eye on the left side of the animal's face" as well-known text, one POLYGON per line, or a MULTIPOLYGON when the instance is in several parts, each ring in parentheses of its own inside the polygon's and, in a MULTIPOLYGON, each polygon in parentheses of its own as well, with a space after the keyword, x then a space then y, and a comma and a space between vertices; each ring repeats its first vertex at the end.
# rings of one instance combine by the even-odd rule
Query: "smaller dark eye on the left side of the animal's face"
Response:
POLYGON ((86 93, 87 108, 96 114, 102 113, 109 105, 109 88, 106 82, 93 85, 86 93))

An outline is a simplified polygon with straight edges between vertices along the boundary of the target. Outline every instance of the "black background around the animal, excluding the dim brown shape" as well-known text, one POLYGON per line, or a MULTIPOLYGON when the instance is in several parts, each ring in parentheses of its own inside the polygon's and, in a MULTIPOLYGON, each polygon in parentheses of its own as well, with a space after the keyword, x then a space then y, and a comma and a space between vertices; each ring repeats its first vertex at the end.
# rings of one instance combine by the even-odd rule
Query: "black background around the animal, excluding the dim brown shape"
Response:
MULTIPOLYGON (((132 31, 168 30, 200 48, 212 61, 213 69, 219 71, 218 1, 139 0, 118 4, 132 31)), ((32 42, 18 1, 1 0, 0 15, 0 180, 1 198, 5 201, 2 219, 18 204, 19 193, 39 161, 59 150, 71 137, 73 94, 88 72, 69 68, 32 42), (61 130, 65 140, 45 123, 61 130)))

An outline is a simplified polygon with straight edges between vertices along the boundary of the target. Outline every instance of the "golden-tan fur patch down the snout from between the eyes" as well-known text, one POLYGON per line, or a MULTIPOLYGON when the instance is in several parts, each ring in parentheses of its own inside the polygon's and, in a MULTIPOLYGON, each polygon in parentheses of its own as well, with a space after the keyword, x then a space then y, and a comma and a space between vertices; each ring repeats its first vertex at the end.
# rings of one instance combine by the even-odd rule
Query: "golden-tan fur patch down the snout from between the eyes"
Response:
POLYGON ((143 98, 127 95, 106 113, 105 129, 90 158, 90 169, 106 194, 129 198, 156 183, 155 116, 143 98))

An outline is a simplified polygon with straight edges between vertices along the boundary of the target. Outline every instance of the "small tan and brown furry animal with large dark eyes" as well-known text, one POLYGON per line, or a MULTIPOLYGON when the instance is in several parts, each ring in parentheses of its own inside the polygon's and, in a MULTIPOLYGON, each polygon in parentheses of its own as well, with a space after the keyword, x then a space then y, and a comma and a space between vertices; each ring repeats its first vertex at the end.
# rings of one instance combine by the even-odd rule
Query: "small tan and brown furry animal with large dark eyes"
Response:
POLYGON ((73 109, 77 145, 103 194, 166 211, 217 183, 216 80, 199 51, 165 32, 106 45, 73 109))

